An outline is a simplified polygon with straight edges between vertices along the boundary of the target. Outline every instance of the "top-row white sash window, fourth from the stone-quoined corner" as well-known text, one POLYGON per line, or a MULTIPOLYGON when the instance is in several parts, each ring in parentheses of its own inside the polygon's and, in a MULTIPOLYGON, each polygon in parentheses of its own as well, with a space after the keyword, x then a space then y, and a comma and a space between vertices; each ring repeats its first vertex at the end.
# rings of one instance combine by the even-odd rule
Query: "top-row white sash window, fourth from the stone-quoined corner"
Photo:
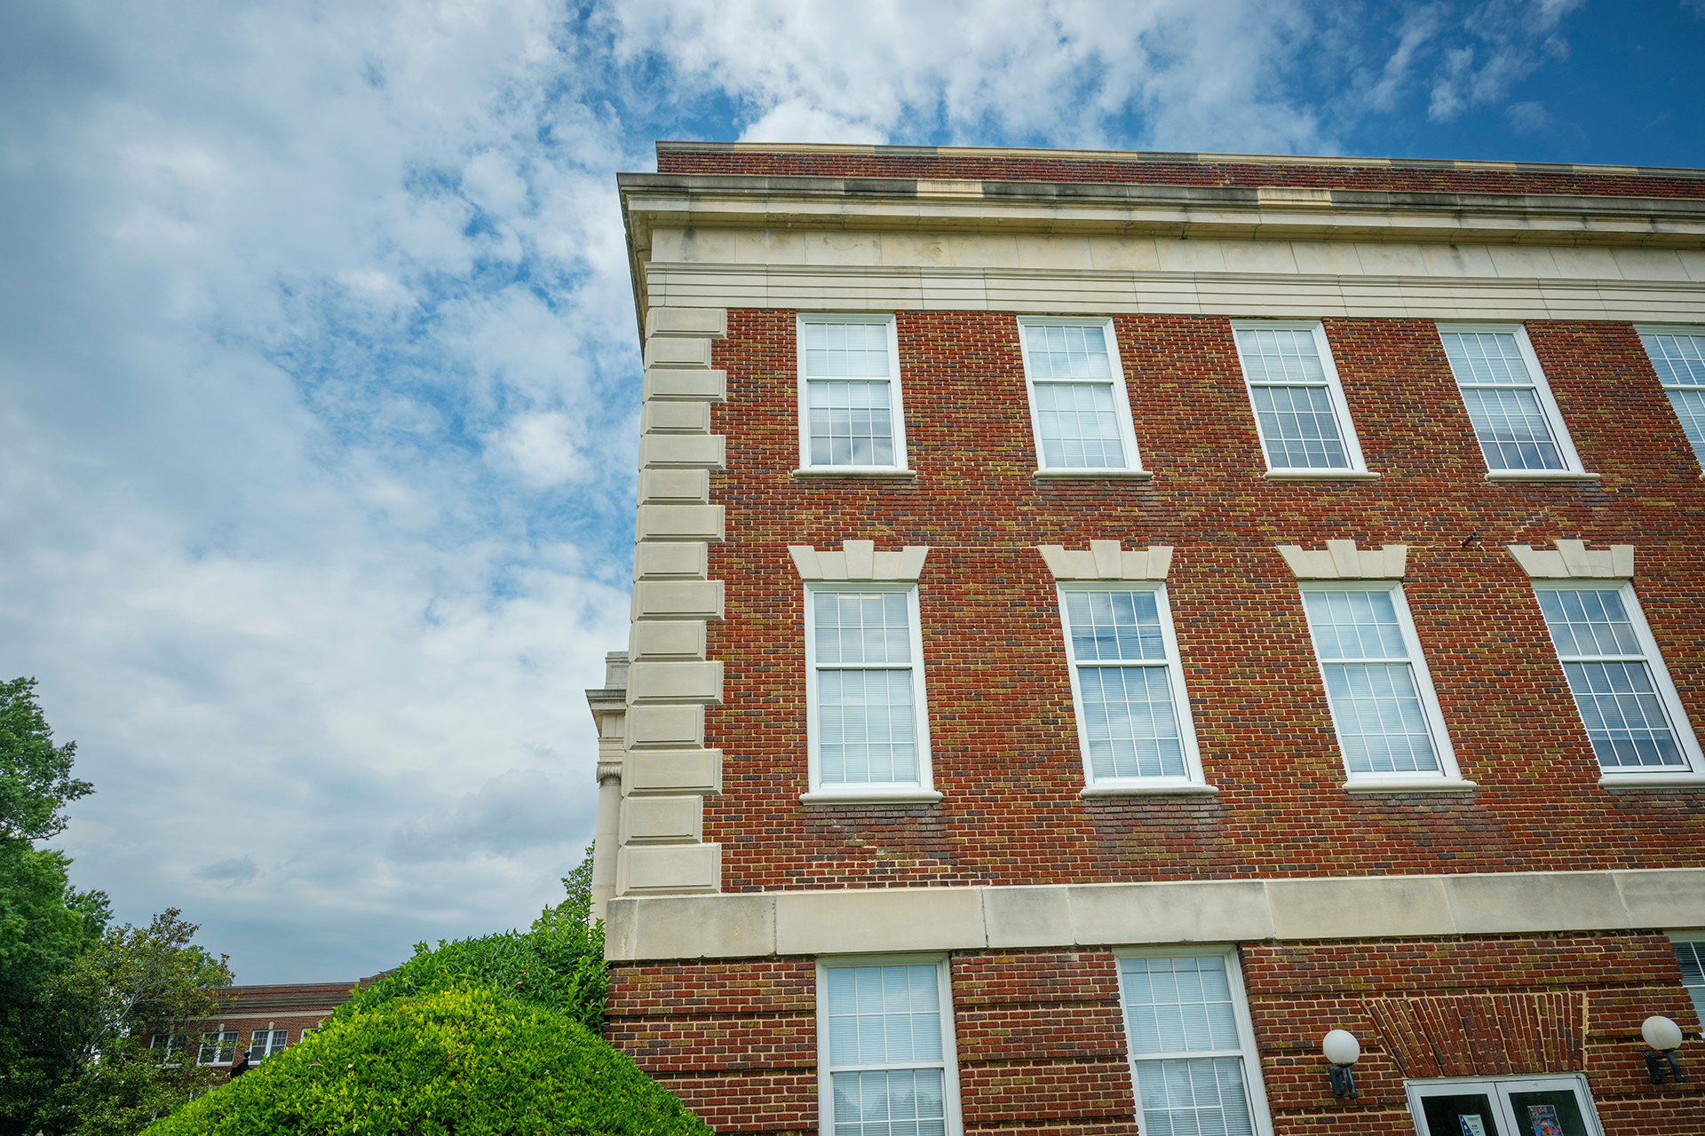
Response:
POLYGON ((1441 324, 1439 339, 1490 477, 1582 473, 1524 327, 1441 324))

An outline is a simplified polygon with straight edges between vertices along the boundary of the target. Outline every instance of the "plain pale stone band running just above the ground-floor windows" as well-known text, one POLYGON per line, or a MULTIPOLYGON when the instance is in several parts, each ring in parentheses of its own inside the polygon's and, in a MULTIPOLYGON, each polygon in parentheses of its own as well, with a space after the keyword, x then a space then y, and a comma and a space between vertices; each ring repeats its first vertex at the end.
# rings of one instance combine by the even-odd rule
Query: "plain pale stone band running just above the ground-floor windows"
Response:
POLYGON ((604 957, 1705 930, 1705 869, 870 887, 612 899, 604 957))

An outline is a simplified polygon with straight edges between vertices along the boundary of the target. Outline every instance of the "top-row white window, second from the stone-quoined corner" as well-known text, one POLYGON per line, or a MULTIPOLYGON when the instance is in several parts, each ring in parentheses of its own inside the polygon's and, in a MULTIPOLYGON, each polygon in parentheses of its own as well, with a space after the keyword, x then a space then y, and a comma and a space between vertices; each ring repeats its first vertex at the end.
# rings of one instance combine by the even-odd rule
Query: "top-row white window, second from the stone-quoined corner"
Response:
POLYGON ((1139 470, 1113 322, 1020 318, 1040 470, 1139 470))

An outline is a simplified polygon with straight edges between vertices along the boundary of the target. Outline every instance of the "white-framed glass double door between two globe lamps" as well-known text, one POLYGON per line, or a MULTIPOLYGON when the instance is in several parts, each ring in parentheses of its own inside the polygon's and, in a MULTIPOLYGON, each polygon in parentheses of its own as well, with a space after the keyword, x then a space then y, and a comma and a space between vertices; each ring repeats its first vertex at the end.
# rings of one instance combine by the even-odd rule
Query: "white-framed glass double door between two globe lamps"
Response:
POLYGON ((1603 1136, 1579 1075, 1449 1078, 1405 1088, 1419 1136, 1603 1136))

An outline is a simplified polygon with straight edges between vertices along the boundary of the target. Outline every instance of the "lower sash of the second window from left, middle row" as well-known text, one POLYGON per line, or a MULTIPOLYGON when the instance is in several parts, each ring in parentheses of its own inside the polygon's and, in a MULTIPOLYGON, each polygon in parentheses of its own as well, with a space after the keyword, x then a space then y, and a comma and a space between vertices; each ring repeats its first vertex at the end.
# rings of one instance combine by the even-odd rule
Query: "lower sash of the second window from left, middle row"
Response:
POLYGON ((1185 775, 1165 666, 1086 666, 1078 686, 1096 778, 1185 775))

